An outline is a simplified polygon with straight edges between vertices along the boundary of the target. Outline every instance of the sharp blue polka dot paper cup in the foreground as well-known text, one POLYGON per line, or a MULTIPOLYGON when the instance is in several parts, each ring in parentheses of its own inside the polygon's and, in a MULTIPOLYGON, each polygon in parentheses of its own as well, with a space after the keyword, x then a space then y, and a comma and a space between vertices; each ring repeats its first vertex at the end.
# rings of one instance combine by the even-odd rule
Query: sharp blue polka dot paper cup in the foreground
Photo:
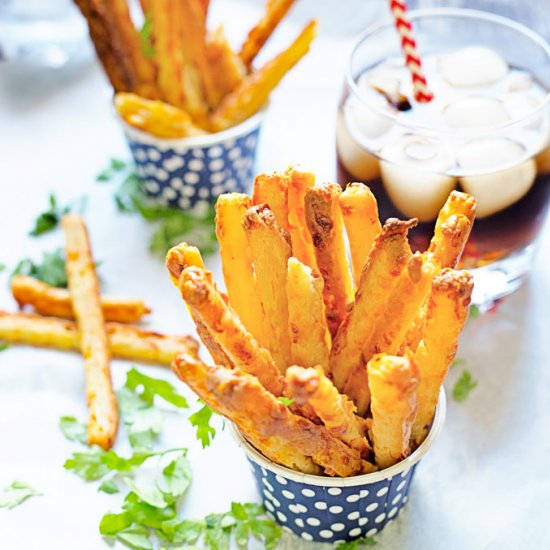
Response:
POLYGON ((304 540, 337 543, 376 535, 398 516, 418 463, 441 431, 445 408, 442 390, 428 437, 406 459, 380 472, 348 478, 302 474, 279 466, 236 428, 232 432, 246 453, 268 514, 304 540))

